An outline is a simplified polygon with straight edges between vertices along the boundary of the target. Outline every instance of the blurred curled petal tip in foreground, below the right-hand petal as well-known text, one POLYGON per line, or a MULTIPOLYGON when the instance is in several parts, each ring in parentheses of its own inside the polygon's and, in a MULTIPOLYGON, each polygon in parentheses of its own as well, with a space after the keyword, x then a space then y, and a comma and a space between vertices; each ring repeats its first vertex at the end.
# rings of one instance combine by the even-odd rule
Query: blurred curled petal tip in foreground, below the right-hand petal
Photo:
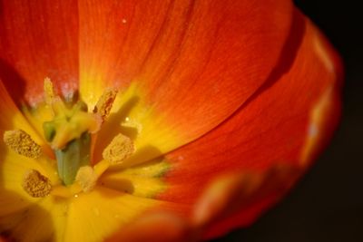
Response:
POLYGON ((276 165, 262 173, 243 171, 221 176, 205 189, 193 210, 193 223, 205 227, 250 206, 267 194, 284 194, 299 175, 299 169, 276 165))

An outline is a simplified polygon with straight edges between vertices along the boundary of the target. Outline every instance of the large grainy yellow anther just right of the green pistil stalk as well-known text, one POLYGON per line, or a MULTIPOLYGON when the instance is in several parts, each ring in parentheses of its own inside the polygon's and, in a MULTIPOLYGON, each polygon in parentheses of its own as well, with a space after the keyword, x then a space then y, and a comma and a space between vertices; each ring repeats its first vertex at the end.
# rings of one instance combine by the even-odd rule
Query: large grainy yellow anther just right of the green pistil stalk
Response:
POLYGON ((103 150, 103 159, 108 160, 112 165, 117 164, 132 156, 134 151, 132 140, 120 133, 103 150))

